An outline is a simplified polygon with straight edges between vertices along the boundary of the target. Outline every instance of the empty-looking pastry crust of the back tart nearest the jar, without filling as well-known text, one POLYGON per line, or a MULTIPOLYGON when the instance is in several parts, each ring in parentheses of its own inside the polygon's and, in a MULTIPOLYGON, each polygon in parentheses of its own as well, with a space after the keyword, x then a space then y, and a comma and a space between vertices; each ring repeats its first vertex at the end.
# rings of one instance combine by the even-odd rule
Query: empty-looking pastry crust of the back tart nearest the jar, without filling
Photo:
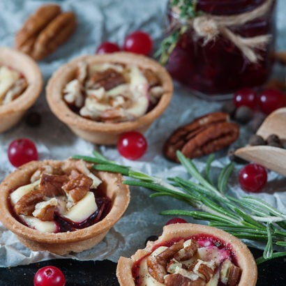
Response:
POLYGON ((158 118, 158 116, 163 114, 172 98, 173 84, 167 70, 153 59, 128 52, 116 52, 112 54, 78 57, 77 59, 70 61, 70 63, 61 66, 61 68, 59 68, 59 70, 57 70, 50 78, 46 91, 47 102, 49 103, 52 112, 59 118, 59 120, 66 123, 73 133, 96 144, 116 144, 121 133, 131 130, 137 130, 144 133, 151 123, 158 118), (63 88, 75 77, 77 63, 80 61, 86 61, 88 64, 136 64, 137 66, 140 66, 140 68, 149 68, 156 73, 160 82, 162 82, 165 92, 153 110, 147 112, 134 121, 105 123, 85 119, 70 110, 63 100, 63 88))

